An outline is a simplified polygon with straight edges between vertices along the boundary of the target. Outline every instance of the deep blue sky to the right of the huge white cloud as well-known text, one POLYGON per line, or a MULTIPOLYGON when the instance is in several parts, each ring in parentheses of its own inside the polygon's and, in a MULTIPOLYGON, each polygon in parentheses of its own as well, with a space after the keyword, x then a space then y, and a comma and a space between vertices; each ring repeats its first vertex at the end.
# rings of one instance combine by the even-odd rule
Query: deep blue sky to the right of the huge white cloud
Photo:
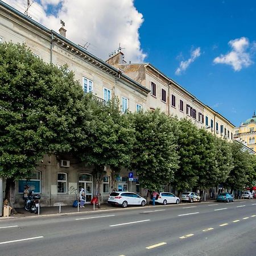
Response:
POLYGON ((236 126, 253 115, 256 1, 135 0, 134 3, 144 19, 139 28, 141 48, 147 53, 144 61, 152 63, 236 126), (232 48, 236 42, 243 47, 242 51, 237 48, 238 56, 231 62, 222 56, 220 61, 221 55, 237 52, 232 48), (193 59, 191 53, 198 48, 200 56, 193 59), (216 57, 220 59, 214 63, 216 57), (176 72, 180 62, 189 59, 187 68, 176 72))

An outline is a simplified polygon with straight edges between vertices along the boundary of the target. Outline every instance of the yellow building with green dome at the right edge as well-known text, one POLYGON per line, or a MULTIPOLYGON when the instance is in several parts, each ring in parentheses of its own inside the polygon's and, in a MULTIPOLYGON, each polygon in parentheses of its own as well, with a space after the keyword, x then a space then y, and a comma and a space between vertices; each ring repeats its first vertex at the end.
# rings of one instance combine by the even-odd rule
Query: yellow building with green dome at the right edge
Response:
POLYGON ((240 127, 236 127, 234 138, 245 142, 246 146, 256 151, 256 115, 247 119, 240 127))

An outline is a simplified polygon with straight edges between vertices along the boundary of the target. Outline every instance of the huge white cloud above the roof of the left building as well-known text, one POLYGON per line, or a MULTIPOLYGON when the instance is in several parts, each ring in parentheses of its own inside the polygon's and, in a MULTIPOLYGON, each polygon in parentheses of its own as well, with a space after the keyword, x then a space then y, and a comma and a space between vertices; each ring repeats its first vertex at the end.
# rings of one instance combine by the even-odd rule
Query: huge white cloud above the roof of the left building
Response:
MULTIPOLYGON (((4 1, 22 13, 26 9, 25 0, 4 1)), ((81 45, 90 43, 88 51, 104 60, 119 43, 125 48, 126 60, 142 62, 146 57, 139 41, 143 16, 134 0, 40 0, 31 5, 28 15, 55 31, 63 20, 69 40, 81 45), (47 13, 49 9, 54 16, 47 13)))

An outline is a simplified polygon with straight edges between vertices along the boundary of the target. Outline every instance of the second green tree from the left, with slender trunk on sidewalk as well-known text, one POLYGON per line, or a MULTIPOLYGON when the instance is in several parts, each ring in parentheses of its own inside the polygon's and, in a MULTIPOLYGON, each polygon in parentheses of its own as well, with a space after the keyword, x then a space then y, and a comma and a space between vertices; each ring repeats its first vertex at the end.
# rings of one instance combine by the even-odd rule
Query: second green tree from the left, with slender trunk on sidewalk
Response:
MULTIPOLYGON (((84 101, 89 119, 86 119, 84 133, 88 138, 80 148, 80 158, 94 166, 93 175, 97 181, 98 195, 105 175, 105 166, 115 173, 129 166, 134 143, 134 129, 126 114, 119 109, 117 98, 102 104, 88 94, 84 101)), ((100 196, 98 196, 100 208, 100 196)))

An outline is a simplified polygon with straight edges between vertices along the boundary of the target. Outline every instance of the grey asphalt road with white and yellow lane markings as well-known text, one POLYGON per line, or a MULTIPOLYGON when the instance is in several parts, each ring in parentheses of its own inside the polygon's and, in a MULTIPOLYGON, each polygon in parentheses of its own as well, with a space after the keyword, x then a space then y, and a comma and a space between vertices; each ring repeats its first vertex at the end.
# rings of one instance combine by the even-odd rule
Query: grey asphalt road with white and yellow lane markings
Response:
POLYGON ((0 255, 256 255, 256 200, 0 220, 0 255))

